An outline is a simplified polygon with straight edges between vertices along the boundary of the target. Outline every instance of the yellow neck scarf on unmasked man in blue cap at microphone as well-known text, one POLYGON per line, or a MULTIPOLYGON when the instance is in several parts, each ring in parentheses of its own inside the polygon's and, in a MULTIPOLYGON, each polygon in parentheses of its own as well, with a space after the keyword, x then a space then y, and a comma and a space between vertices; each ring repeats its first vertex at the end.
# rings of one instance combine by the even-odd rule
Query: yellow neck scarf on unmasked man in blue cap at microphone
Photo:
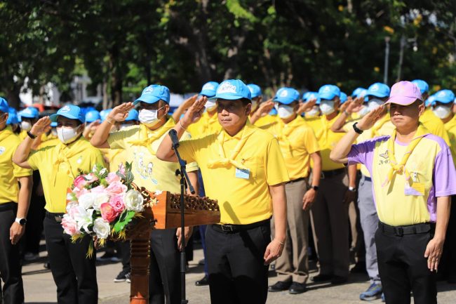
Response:
POLYGON ((223 150, 223 143, 224 143, 224 131, 220 131, 219 135, 217 136, 217 141, 218 141, 218 151, 219 151, 219 159, 215 159, 212 161, 208 161, 208 168, 219 168, 219 167, 224 167, 228 168, 230 165, 235 166, 236 168, 243 169, 243 170, 248 170, 246 166, 243 166, 243 164, 239 163, 239 161, 236 161, 236 157, 238 156, 239 152, 241 152, 241 149, 243 145, 246 144, 247 138, 253 134, 254 128, 252 128, 252 125, 250 124, 249 121, 246 122, 246 126, 243 127, 242 129, 242 135, 241 135, 241 140, 239 140, 239 143, 234 147, 233 154, 227 158, 225 156, 224 150, 223 150))

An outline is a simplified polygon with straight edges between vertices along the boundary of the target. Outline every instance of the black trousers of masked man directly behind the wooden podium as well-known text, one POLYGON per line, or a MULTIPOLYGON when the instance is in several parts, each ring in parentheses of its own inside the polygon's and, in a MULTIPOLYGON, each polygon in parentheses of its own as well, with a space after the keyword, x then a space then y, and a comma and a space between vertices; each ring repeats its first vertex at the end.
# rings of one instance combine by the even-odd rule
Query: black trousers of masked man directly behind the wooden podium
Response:
POLYGON ((149 303, 180 304, 180 251, 175 229, 151 234, 149 303))

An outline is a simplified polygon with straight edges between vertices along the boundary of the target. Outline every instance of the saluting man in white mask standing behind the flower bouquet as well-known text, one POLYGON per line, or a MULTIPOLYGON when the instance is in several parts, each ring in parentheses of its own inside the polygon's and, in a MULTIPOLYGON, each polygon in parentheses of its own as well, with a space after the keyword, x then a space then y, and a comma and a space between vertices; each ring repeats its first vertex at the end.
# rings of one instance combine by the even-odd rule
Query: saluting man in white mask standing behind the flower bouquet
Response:
POLYGON ((67 202, 67 188, 80 171, 90 172, 95 164, 103 164, 100 150, 83 138, 84 117, 79 107, 65 105, 57 114, 43 117, 32 126, 27 138, 16 150, 13 161, 22 168, 39 170, 46 199, 44 234, 58 303, 98 303, 95 256, 86 258, 90 236, 73 243, 61 225, 67 202), (57 121, 60 143, 31 152, 33 139, 57 121))

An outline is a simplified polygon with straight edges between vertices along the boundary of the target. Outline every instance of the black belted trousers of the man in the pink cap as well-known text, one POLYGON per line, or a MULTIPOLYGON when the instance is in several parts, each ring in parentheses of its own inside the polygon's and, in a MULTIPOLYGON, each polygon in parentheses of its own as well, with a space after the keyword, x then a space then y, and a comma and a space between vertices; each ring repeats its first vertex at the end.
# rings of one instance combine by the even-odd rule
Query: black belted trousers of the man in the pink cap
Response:
POLYGON ((427 267, 426 246, 434 232, 396 236, 377 229, 377 263, 387 304, 436 304, 436 273, 427 267))

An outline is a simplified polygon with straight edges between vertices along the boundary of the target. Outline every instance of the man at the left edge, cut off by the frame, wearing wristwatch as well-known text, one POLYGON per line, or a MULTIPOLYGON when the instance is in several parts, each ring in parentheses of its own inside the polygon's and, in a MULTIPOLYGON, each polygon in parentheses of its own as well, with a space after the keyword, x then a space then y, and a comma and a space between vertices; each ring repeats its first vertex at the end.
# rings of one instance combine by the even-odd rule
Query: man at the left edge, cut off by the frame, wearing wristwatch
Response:
POLYGON ((18 242, 27 223, 32 170, 13 164, 13 154, 20 138, 6 124, 8 110, 8 103, 0 98, 0 277, 3 281, 0 302, 22 304, 24 287, 18 242))

